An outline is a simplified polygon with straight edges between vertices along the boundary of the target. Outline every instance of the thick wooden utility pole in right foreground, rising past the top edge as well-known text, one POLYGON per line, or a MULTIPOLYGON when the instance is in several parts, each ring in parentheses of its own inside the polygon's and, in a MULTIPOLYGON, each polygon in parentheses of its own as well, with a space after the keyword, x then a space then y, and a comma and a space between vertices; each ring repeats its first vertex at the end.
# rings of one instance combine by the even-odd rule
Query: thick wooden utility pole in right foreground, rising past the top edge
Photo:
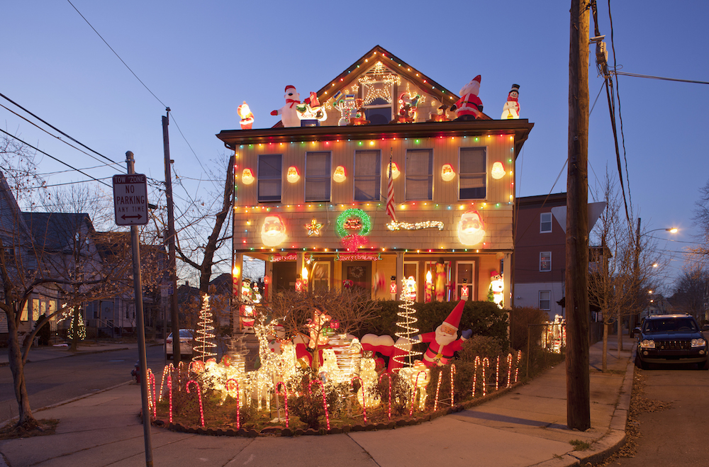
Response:
POLYGON ((591 427, 588 375, 588 30, 591 3, 571 0, 566 177, 566 425, 591 427))

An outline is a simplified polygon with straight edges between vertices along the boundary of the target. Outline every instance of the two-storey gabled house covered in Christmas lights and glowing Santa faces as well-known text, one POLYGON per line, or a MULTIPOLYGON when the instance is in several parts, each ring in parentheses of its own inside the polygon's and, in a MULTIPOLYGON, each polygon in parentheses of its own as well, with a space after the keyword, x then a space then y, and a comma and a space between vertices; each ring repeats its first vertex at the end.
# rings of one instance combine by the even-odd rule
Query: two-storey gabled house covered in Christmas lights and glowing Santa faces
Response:
POLYGON ((487 300, 492 277, 511 291, 515 159, 532 123, 454 120, 457 94, 379 46, 315 96, 298 104, 301 126, 217 135, 235 153, 234 283, 247 255, 266 261, 267 296, 345 286, 389 299, 406 279, 416 301, 487 300))

